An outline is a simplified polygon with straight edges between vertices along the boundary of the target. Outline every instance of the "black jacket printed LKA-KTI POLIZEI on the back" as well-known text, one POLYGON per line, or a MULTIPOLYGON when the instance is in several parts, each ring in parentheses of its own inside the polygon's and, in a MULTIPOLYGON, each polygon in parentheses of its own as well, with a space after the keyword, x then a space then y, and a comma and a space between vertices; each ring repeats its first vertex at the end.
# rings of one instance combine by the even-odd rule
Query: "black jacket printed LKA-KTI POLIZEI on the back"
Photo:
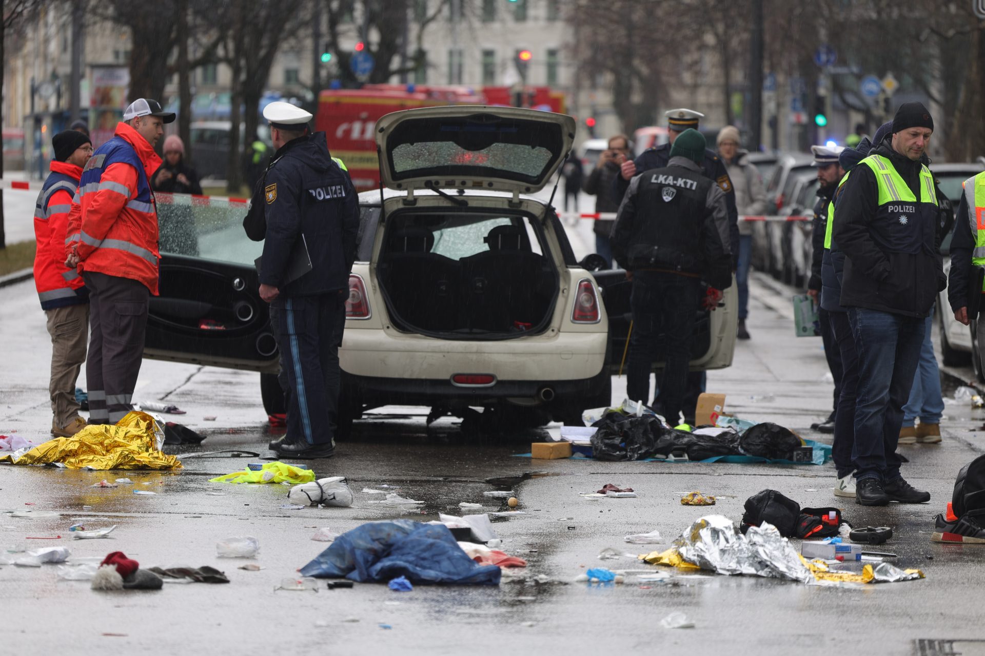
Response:
POLYGON ((699 275, 732 283, 725 195, 697 164, 674 157, 629 182, 613 228, 613 257, 629 270, 699 275))

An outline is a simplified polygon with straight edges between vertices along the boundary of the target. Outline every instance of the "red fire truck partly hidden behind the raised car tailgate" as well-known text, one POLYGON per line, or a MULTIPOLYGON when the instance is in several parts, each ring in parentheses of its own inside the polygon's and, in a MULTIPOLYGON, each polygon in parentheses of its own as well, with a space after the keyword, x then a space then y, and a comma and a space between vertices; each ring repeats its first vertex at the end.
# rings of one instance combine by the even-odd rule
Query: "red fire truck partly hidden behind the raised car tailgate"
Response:
POLYGON ((508 87, 436 87, 423 85, 364 85, 361 89, 327 89, 318 97, 315 129, 325 133, 328 149, 349 168, 360 191, 379 185, 379 165, 373 130, 376 119, 401 109, 455 104, 514 105, 564 113, 564 95, 547 87, 528 87, 520 93, 508 87))

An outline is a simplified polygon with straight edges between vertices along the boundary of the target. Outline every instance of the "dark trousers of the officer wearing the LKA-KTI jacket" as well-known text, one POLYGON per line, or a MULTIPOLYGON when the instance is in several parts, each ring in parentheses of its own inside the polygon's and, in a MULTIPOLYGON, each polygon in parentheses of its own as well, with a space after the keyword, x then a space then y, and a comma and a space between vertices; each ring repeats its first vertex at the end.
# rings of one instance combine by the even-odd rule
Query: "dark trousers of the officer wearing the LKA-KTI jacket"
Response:
POLYGON ((684 405, 700 291, 700 280, 695 277, 659 271, 635 271, 632 276, 626 393, 632 400, 649 400, 650 371, 662 341, 665 365, 657 387, 662 414, 671 425, 677 424, 684 405))

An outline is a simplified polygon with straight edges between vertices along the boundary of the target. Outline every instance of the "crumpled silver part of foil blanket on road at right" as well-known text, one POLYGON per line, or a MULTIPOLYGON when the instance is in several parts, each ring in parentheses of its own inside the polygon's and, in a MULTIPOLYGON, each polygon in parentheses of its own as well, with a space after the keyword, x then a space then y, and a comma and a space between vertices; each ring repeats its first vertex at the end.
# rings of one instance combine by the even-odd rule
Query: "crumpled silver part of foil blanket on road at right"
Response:
POLYGON ((814 574, 775 526, 763 522, 746 535, 720 514, 699 518, 674 542, 681 556, 720 574, 755 574, 807 583, 814 574))

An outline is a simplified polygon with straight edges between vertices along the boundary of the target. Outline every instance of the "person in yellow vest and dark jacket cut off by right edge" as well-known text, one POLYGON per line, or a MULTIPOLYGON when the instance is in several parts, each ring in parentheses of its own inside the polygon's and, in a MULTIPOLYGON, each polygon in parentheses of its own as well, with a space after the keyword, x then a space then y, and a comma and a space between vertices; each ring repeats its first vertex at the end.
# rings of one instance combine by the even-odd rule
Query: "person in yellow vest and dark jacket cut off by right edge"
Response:
MULTIPOLYGON (((961 184, 964 191, 957 207, 951 242, 948 300, 954 311, 954 319, 967 326, 972 320, 978 319, 975 309, 981 302, 981 294, 985 293, 985 285, 971 288, 972 280, 978 280, 977 268, 985 267, 985 171, 961 184)), ((981 340, 985 333, 985 322, 979 321, 977 330, 978 339, 981 340)), ((985 360, 985 355, 982 359, 985 360)))

